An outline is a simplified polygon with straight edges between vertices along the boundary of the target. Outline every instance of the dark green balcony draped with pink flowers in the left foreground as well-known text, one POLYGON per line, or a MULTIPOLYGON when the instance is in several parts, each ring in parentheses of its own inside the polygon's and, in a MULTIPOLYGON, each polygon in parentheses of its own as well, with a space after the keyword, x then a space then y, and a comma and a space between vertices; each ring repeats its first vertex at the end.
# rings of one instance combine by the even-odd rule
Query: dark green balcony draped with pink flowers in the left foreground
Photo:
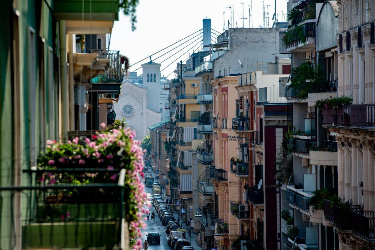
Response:
MULTIPOLYGON (((37 167, 24 170, 30 184, 0 188, 2 201, 19 197, 24 206, 23 248, 114 248, 124 246, 124 228, 130 238, 141 237, 146 194, 134 136, 120 128, 67 143, 48 140, 37 167)), ((139 241, 130 247, 138 249, 139 241)))

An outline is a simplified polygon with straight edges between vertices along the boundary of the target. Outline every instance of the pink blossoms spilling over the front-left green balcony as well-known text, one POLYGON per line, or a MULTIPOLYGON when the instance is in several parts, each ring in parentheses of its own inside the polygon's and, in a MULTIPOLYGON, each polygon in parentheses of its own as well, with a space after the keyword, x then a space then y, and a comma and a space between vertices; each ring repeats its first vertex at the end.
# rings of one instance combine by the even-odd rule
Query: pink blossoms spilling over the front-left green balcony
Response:
MULTIPOLYGON (((130 156, 130 168, 127 165, 126 175, 125 175, 125 183, 132 187, 133 195, 129 196, 129 201, 125 201, 128 204, 134 204, 136 209, 133 210, 135 218, 134 220, 129 222, 130 226, 130 234, 133 238, 136 238, 135 244, 131 246, 133 249, 141 249, 142 248, 142 233, 141 228, 146 227, 146 223, 144 222, 144 217, 147 213, 149 213, 147 207, 151 207, 150 201, 147 201, 147 195, 145 193, 144 184, 142 182, 143 176, 143 154, 144 151, 140 147, 141 142, 134 139, 135 138, 135 131, 131 131, 129 127, 127 128, 119 128, 119 129, 112 129, 110 131, 101 131, 97 132, 96 135, 93 135, 91 138, 86 138, 83 144, 79 144, 80 140, 78 137, 69 141, 69 147, 71 148, 71 155, 69 157, 65 156, 64 154, 60 154, 58 158, 52 159, 54 156, 55 151, 60 151, 60 148, 66 146, 66 144, 61 144, 56 141, 47 141, 49 145, 47 149, 47 154, 50 152, 50 155, 46 155, 49 158, 48 167, 54 167, 58 164, 78 164, 84 165, 86 162, 90 160, 95 160, 98 164, 105 165, 105 168, 108 170, 120 168, 115 164, 116 159, 118 162, 119 157, 124 155, 124 151, 126 151, 126 155, 130 156), (115 147, 113 147, 115 146, 115 147), (120 147, 120 150, 116 152, 113 148, 120 147), (52 152, 53 151, 53 152, 52 152)), ((66 147, 64 148, 66 150, 66 147)), ((66 151, 65 151, 66 152, 66 151)), ((69 155, 69 154, 68 154, 69 155)), ((46 163, 45 163, 46 164, 46 163)), ((90 177, 96 177, 96 174, 90 175, 90 177)), ((46 177, 43 175, 43 181, 49 179, 49 182, 52 183, 55 180, 55 177, 46 177)), ((118 179, 118 174, 111 174, 110 175, 111 181, 116 181, 118 179)), ((69 218, 69 215, 63 215, 64 219, 66 217, 69 218)))

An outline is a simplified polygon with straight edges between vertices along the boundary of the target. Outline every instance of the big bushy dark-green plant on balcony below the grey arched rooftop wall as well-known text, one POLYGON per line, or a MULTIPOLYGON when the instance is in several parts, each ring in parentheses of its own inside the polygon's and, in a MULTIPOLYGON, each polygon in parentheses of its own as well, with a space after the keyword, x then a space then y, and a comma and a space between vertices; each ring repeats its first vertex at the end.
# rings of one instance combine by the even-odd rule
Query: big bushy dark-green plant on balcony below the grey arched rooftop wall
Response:
POLYGON ((291 74, 291 85, 288 88, 293 88, 298 99, 306 99, 308 93, 325 92, 329 87, 325 71, 320 65, 314 67, 310 62, 301 63, 291 70, 291 74))

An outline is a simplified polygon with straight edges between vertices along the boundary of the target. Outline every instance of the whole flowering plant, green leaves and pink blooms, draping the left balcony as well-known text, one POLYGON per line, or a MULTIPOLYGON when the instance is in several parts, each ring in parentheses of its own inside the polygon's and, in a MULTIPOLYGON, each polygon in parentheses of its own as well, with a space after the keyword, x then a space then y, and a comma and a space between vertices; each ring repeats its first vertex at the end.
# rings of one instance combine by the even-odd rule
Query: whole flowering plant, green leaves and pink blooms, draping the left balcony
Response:
MULTIPOLYGON (((105 126, 105 125, 104 125, 105 126)), ((144 203, 151 207, 150 202, 146 201, 147 195, 144 192, 144 185, 141 181, 143 177, 143 154, 144 151, 139 147, 140 142, 134 139, 135 131, 130 128, 111 129, 96 132, 92 138, 86 138, 80 141, 78 137, 66 143, 56 141, 47 141, 46 151, 38 158, 38 168, 42 170, 37 183, 42 186, 56 186, 60 184, 87 185, 87 184, 105 184, 118 183, 118 173, 121 169, 125 170, 123 190, 124 219, 130 226, 130 237, 141 237, 140 228, 145 227, 143 221, 147 209, 143 208, 144 203), (69 171, 63 174, 53 174, 56 170, 64 169, 82 169, 80 175, 72 175, 69 171), (85 172, 85 169, 90 169, 85 172), (94 169, 94 171, 92 170, 94 169), (97 169, 98 172, 95 172, 97 169), (116 171, 117 170, 117 171, 116 171)), ((110 186, 111 187, 111 186, 110 186)), ((100 193, 81 192, 78 196, 83 200, 81 203, 98 202, 100 203, 118 202, 119 196, 115 190, 110 189, 102 197, 100 193)), ((70 204, 69 194, 61 200, 57 193, 57 199, 61 203, 70 204)), ((49 204, 46 197, 45 204, 49 204)), ((52 199, 54 199, 52 197, 52 199)), ((77 201, 76 201, 77 202, 77 201)), ((65 207, 65 206, 63 206, 65 207)), ((58 206, 55 208, 58 208, 58 206)), ((58 213, 58 211, 55 211, 58 213)), ((69 217, 65 208, 61 210, 62 220, 69 217), (64 217, 63 217, 64 216, 64 217), (66 216, 66 217, 65 217, 66 216)), ((69 218, 68 218, 69 219, 69 218)), ((133 242, 134 248, 139 248, 141 242, 133 242)))

